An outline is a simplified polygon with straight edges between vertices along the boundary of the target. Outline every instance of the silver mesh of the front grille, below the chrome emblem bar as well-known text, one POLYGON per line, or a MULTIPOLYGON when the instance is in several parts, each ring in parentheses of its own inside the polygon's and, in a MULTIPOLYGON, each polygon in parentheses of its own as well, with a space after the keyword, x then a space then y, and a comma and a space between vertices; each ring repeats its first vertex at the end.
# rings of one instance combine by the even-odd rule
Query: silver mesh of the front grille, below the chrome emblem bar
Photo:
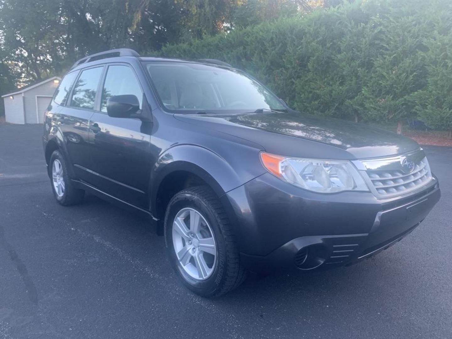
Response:
POLYGON ((384 198, 408 193, 432 179, 426 157, 416 163, 408 174, 402 170, 367 170, 366 173, 377 196, 384 198))

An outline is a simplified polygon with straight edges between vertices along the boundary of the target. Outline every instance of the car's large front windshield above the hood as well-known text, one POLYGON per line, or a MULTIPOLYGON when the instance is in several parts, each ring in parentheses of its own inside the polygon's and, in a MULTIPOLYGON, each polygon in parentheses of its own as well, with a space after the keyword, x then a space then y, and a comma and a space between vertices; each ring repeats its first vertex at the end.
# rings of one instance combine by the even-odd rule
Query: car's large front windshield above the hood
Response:
POLYGON ((176 113, 286 109, 277 97, 239 71, 184 62, 148 62, 146 68, 165 109, 176 113))

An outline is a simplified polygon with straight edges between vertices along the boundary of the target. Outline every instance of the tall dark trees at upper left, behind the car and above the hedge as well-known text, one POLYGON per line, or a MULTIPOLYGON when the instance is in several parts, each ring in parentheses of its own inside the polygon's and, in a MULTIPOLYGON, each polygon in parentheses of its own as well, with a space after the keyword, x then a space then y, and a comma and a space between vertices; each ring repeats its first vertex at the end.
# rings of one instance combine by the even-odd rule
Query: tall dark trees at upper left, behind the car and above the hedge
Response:
POLYGON ((297 13, 304 0, 0 0, 0 49, 27 84, 83 56, 137 52, 297 13))

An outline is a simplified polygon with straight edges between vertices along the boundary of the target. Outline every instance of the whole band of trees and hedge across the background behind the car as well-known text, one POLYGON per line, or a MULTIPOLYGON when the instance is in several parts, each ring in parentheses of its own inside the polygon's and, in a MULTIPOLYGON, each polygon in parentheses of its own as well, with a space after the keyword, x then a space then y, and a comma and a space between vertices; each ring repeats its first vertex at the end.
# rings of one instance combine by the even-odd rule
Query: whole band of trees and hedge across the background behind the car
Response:
POLYGON ((452 130, 450 0, 0 0, 0 13, 0 93, 130 47, 227 61, 302 112, 452 130))

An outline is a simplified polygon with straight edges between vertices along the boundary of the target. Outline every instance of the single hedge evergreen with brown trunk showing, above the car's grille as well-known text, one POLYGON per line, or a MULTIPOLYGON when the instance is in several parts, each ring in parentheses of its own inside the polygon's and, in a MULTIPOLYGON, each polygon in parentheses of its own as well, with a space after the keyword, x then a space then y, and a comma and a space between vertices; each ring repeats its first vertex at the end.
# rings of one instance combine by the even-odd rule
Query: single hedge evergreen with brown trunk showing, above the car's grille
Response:
POLYGON ((419 51, 429 28, 408 1, 372 18, 378 54, 363 87, 367 118, 396 121, 402 133, 403 120, 415 115, 411 94, 425 85, 419 51))

